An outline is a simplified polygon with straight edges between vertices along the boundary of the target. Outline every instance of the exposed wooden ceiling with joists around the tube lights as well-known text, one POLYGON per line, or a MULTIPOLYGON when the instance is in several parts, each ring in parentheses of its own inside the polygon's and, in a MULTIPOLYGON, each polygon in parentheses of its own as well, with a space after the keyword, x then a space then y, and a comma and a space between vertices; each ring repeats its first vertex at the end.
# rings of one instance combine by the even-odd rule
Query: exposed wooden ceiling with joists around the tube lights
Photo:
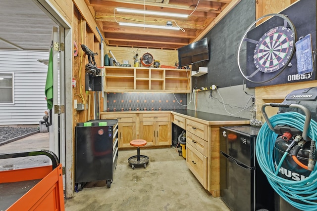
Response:
POLYGON ((109 46, 177 49, 203 38, 204 35, 240 0, 85 0, 97 23, 102 27, 109 46), (187 18, 132 14, 116 8, 173 12, 187 18), (119 26, 129 22, 165 26, 172 21, 182 30, 119 26))

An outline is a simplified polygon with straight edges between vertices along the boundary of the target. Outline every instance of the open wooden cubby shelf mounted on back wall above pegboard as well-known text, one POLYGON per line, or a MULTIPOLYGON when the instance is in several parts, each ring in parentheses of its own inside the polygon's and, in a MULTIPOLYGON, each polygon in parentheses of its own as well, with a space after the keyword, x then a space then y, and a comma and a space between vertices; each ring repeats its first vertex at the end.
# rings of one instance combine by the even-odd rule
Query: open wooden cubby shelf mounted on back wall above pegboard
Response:
POLYGON ((191 71, 142 67, 105 68, 107 92, 191 92, 191 71))

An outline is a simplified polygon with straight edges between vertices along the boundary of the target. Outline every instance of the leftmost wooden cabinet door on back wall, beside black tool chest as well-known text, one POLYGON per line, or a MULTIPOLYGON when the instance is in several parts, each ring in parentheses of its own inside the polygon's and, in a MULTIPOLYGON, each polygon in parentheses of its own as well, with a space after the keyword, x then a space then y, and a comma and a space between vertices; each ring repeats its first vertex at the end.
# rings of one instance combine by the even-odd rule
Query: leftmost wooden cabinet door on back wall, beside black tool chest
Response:
POLYGON ((135 123, 119 123, 118 147, 131 147, 130 141, 136 139, 135 123))

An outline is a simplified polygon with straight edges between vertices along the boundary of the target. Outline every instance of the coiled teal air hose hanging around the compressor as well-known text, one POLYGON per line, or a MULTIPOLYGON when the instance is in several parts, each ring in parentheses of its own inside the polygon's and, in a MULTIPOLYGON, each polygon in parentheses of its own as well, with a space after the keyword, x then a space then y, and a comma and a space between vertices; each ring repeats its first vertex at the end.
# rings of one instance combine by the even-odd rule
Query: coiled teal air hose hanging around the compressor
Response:
MULTIPOLYGON (((288 125, 303 131, 305 116, 297 112, 286 112, 272 116, 269 122, 273 127, 288 125)), ((275 192, 286 202, 299 210, 317 211, 317 165, 308 177, 300 181, 276 175, 275 172, 278 172, 281 166, 281 162, 274 161, 274 144, 277 136, 266 123, 260 128, 256 141, 256 156, 260 168, 275 192)), ((317 140, 317 123, 314 120, 311 120, 308 137, 313 141, 317 140)), ((283 157, 285 158, 286 154, 283 157)))

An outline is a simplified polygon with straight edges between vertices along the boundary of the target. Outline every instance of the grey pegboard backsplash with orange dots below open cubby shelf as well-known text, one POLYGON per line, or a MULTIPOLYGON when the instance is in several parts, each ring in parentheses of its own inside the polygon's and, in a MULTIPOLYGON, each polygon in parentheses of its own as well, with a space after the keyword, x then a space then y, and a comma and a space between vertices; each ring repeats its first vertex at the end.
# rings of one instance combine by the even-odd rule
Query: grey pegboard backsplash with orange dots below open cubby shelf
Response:
POLYGON ((107 93, 107 111, 163 111, 186 109, 187 94, 107 93))

